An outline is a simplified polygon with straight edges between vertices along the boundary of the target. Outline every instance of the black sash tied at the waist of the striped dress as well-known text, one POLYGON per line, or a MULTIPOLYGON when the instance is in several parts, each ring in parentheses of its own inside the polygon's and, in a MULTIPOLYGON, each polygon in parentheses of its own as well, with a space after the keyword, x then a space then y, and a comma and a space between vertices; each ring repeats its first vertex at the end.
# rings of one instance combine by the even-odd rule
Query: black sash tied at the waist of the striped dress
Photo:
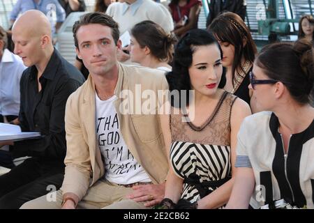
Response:
POLYGON ((198 176, 197 174, 190 174, 188 178, 184 179, 184 183, 195 186, 198 192, 200 192, 200 198, 202 199, 203 197, 206 197, 208 194, 212 192, 211 190, 208 189, 208 187, 218 188, 230 179, 231 177, 227 176, 220 180, 211 180, 211 181, 204 180, 201 183, 200 176, 198 176))

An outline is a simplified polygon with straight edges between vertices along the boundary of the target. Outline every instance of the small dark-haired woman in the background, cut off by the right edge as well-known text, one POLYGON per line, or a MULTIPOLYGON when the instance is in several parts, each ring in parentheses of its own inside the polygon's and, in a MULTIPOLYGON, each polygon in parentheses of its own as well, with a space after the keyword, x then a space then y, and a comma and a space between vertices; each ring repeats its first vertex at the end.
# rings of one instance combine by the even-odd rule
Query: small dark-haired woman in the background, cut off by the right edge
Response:
POLYGON ((298 38, 306 38, 314 45, 314 18, 312 15, 304 15, 299 21, 298 38))

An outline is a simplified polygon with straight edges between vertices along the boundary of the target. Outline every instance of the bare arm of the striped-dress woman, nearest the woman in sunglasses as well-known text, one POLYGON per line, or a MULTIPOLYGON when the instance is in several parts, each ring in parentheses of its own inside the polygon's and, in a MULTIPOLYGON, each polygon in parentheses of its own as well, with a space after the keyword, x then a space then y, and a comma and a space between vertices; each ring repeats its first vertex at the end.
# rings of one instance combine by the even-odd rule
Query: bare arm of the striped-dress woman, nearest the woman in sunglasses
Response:
POLYGON ((217 190, 211 192, 200 201, 198 201, 198 208, 219 208, 223 206, 230 198, 232 186, 234 184, 234 176, 237 175, 234 163, 236 159, 237 148, 237 134, 239 132, 240 125, 246 116, 251 115, 251 109, 244 100, 237 98, 234 101, 234 105, 231 110, 230 117, 230 138, 231 138, 231 164, 232 164, 232 178, 226 183, 218 187, 217 190))

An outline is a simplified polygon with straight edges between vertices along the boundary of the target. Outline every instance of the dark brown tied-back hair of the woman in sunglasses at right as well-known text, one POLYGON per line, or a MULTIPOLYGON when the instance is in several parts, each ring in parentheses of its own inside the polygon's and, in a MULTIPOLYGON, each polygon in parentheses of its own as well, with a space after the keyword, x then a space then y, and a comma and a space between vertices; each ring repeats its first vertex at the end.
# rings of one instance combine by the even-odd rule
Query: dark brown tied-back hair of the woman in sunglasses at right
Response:
POLYGON ((314 58, 311 41, 274 43, 264 47, 255 64, 271 79, 283 82, 292 98, 304 105, 313 100, 314 58))

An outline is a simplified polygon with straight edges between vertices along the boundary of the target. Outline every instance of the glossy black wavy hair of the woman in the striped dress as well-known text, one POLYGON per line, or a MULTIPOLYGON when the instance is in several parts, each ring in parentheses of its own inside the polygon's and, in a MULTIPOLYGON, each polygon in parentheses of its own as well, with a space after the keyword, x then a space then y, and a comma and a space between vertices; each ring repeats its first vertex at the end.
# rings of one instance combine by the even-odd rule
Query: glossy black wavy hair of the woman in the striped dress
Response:
MULTIPOLYGON (((217 45, 220 51, 220 58, 223 59, 223 52, 214 36, 201 29, 193 29, 188 31, 182 38, 179 40, 179 43, 174 49, 174 59, 172 63, 172 71, 167 72, 166 78, 169 84, 170 91, 181 91, 186 90, 186 105, 189 102, 188 91, 191 90, 190 84, 190 75, 188 73, 188 68, 192 65, 193 53, 195 47, 197 46, 207 46, 207 45, 217 45)), ((220 83, 218 88, 223 89, 225 86, 225 68, 223 68, 223 75, 221 75, 220 83)), ((179 94, 181 97, 181 94, 179 94)), ((181 102, 181 98, 180 98, 181 102)), ((174 105, 174 102, 171 100, 171 105, 174 105)), ((181 107, 181 105, 179 106, 181 107)))

